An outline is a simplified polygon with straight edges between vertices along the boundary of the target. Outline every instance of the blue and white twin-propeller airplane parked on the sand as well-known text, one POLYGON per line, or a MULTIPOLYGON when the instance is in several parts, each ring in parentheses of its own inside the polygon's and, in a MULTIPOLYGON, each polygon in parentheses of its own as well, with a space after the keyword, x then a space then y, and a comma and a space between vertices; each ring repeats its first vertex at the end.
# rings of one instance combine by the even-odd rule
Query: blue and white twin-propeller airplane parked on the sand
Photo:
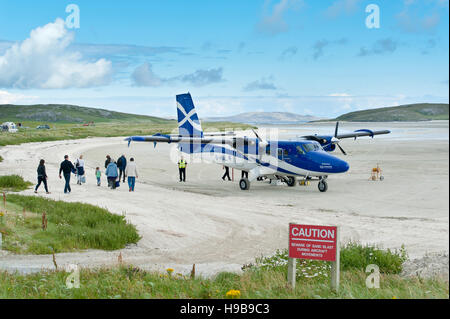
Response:
POLYGON ((190 93, 176 96, 178 113, 178 135, 157 133, 152 136, 130 136, 125 139, 128 146, 133 142, 178 143, 183 154, 199 154, 202 159, 216 164, 248 172, 248 178, 239 181, 241 190, 248 190, 256 180, 282 181, 293 187, 298 178, 304 181, 318 181, 320 192, 328 189, 327 178, 333 174, 345 173, 349 164, 329 154, 336 149, 346 155, 339 145, 341 139, 374 137, 389 134, 389 130, 372 131, 361 129, 348 134, 338 134, 339 122, 334 135, 307 135, 297 140, 266 140, 255 130, 251 136, 235 136, 232 132, 203 132, 190 93))

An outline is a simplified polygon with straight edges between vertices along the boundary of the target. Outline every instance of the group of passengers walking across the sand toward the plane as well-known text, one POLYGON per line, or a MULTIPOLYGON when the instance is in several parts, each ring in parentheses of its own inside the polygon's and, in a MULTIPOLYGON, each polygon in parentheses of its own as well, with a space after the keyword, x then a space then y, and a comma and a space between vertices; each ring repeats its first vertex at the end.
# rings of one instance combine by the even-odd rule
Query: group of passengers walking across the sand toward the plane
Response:
MULTIPOLYGON (((64 156, 64 161, 61 162, 59 167, 59 178, 62 179, 64 176, 64 194, 70 194, 72 189, 70 187, 71 174, 76 174, 77 184, 82 185, 86 183, 86 172, 85 172, 85 161, 83 155, 75 161, 75 164, 69 160, 69 156, 64 156)), ((127 162, 125 155, 119 157, 117 161, 113 160, 111 156, 106 155, 105 161, 105 175, 108 182, 108 187, 111 189, 116 189, 120 186, 120 181, 125 183, 125 178, 128 179, 128 188, 130 192, 134 192, 136 185, 136 178, 138 178, 138 169, 134 158, 130 158, 127 162)), ((48 190, 48 176, 45 168, 45 160, 41 159, 39 161, 39 166, 37 168, 38 183, 34 189, 37 193, 41 184, 44 184, 45 192, 50 194, 48 190)), ((102 172, 99 167, 95 168, 95 178, 97 180, 97 186, 101 186, 101 176, 102 172)))

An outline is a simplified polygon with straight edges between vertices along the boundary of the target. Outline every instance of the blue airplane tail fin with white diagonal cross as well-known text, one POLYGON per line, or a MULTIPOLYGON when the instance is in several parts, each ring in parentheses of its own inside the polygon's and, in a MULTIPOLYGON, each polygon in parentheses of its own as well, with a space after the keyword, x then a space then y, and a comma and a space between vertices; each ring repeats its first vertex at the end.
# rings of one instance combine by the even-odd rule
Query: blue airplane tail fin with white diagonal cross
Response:
POLYGON ((178 131, 181 136, 203 137, 203 130, 190 93, 177 95, 178 131))

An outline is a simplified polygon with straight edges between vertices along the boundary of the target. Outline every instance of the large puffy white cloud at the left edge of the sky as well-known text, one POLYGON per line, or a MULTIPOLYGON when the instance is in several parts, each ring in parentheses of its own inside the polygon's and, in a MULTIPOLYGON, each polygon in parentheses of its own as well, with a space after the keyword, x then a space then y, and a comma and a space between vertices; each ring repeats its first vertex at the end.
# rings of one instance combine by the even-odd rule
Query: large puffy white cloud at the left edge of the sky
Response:
POLYGON ((32 30, 29 38, 0 56, 0 87, 61 89, 107 84, 111 62, 83 60, 81 53, 67 49, 73 40, 74 34, 59 18, 32 30))

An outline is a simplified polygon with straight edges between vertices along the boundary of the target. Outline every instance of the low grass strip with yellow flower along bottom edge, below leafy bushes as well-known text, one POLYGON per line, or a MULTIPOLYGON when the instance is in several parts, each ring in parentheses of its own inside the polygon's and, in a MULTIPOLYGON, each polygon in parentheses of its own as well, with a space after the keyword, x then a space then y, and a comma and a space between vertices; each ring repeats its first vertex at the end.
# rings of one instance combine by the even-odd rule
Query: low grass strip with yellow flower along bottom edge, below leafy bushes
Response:
POLYGON ((330 289, 324 278, 302 278, 295 290, 280 269, 252 269, 242 274, 220 273, 213 279, 158 274, 132 266, 81 269, 80 287, 68 289, 65 271, 20 275, 0 272, 0 298, 448 298, 448 284, 432 279, 404 279, 382 274, 380 288, 365 285, 360 270, 341 273, 339 292, 330 289), (231 294, 230 292, 233 292, 231 294))

